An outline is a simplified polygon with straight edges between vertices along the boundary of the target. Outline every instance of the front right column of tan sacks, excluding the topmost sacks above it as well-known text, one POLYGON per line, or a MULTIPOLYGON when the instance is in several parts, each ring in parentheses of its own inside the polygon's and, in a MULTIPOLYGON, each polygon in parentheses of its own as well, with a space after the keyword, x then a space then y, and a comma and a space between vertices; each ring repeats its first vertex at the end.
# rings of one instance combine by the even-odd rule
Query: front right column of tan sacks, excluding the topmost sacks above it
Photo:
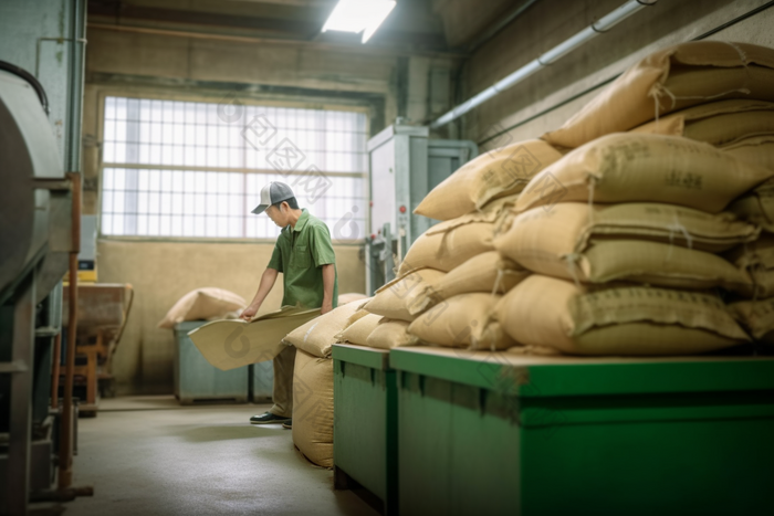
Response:
POLYGON ((686 355, 747 340, 718 289, 754 293, 720 253, 760 229, 725 212, 773 171, 683 137, 613 134, 546 168, 495 248, 534 274, 499 304, 517 343, 575 355, 686 355), (545 196, 551 185, 561 196, 545 196))

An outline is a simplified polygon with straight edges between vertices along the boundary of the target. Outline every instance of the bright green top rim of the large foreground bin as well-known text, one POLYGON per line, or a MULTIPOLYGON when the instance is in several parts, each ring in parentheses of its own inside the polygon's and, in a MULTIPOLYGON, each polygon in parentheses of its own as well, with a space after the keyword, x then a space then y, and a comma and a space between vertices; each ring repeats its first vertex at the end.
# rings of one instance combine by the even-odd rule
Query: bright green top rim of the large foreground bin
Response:
POLYGON ((586 364, 552 364, 517 355, 502 358, 505 355, 491 354, 500 358, 490 360, 398 348, 390 351, 389 365, 397 371, 524 398, 774 390, 774 357, 590 358, 586 364))

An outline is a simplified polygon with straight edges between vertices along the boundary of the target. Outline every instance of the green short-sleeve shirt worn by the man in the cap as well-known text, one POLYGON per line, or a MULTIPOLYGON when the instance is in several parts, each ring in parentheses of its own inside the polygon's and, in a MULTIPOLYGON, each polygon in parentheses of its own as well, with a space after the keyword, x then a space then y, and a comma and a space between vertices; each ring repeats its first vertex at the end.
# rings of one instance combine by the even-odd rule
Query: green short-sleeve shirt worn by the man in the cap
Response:
MULTIPOLYGON (((323 265, 336 266, 331 232, 325 222, 304 209, 295 223, 276 239, 269 268, 282 273, 282 305, 301 303, 308 308, 323 306, 323 265)), ((338 271, 333 283, 333 307, 338 304, 338 271)))

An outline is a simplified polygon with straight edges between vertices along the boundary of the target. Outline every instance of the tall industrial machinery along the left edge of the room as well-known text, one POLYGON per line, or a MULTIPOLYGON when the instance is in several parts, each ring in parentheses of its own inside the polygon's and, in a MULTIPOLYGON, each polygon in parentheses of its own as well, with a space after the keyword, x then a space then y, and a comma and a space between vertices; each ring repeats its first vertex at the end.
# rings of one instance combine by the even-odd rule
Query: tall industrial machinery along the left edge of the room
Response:
POLYGON ((76 305, 85 1, 0 11, 0 514, 17 515, 90 494, 71 485, 77 310, 62 320, 69 270, 76 305))

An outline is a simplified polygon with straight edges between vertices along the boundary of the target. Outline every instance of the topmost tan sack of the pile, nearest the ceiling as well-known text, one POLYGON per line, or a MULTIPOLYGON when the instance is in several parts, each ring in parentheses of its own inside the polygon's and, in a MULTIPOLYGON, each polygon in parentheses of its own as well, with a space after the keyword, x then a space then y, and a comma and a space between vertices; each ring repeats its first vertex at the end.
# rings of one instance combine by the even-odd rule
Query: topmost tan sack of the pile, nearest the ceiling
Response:
POLYGON ((655 52, 627 70, 559 129, 552 145, 580 147, 660 115, 710 101, 774 101, 774 50, 694 41, 655 52))

